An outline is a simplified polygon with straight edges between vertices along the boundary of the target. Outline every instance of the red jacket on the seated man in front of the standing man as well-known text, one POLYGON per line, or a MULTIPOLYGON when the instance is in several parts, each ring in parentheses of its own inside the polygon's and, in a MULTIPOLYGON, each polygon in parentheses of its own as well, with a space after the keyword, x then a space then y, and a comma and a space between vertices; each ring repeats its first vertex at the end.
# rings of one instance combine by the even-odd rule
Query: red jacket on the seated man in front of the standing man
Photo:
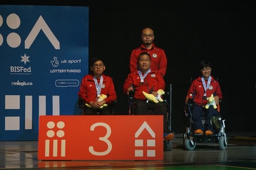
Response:
POLYGON ((135 88, 134 98, 144 100, 146 97, 143 95, 142 91, 151 94, 152 91, 158 91, 159 89, 164 90, 165 88, 163 76, 158 73, 158 71, 154 70, 151 70, 151 72, 147 74, 143 84, 140 83, 141 79, 139 78, 138 71, 128 74, 123 84, 123 92, 127 94, 128 88, 133 86, 135 88))

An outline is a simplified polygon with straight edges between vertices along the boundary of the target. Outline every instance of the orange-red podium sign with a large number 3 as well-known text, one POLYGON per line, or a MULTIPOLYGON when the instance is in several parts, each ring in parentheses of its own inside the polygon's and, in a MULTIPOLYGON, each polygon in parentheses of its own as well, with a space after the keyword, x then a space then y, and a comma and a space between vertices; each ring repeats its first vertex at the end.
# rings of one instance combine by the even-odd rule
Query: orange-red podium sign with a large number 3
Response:
POLYGON ((163 116, 40 116, 39 160, 163 160, 163 116))

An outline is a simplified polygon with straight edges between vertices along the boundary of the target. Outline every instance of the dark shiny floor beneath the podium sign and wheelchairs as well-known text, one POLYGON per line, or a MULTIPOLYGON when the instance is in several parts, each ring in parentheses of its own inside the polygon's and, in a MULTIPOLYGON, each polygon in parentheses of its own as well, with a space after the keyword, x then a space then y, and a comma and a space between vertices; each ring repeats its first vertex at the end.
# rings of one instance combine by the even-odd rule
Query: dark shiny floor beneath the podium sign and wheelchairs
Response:
POLYGON ((183 149, 183 134, 175 134, 163 161, 41 161, 37 141, 1 141, 0 169, 256 169, 256 132, 226 134, 226 150, 197 143, 192 151, 183 149))

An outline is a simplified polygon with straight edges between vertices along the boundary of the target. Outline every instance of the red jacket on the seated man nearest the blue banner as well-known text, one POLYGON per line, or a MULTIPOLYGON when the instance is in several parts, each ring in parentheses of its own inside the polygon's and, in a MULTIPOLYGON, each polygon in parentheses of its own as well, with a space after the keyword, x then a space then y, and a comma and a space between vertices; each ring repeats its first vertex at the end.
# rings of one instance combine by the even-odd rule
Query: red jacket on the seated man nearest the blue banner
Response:
MULTIPOLYGON (((101 94, 107 95, 105 99, 106 104, 112 103, 117 99, 117 94, 115 92, 114 83, 110 76, 102 75, 103 83, 101 88, 101 94)), ((97 79, 98 83, 100 79, 97 79)), ((93 80, 93 75, 88 74, 82 78, 80 90, 78 92, 79 97, 84 99, 85 103, 90 103, 90 101, 95 101, 97 97, 96 86, 93 80)))

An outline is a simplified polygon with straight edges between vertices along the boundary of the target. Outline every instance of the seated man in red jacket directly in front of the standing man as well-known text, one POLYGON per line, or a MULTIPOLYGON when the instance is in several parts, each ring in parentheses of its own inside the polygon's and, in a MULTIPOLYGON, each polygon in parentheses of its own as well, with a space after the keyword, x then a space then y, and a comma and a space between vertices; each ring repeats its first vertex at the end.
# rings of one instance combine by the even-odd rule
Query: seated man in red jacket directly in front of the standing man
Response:
POLYGON ((129 94, 134 91, 135 115, 163 115, 164 139, 171 141, 174 134, 168 131, 166 120, 166 105, 164 102, 153 103, 147 101, 143 92, 158 96, 158 90, 164 90, 165 82, 163 76, 155 70, 150 69, 151 57, 147 52, 142 52, 138 57, 138 70, 130 73, 123 84, 123 92, 129 94))

